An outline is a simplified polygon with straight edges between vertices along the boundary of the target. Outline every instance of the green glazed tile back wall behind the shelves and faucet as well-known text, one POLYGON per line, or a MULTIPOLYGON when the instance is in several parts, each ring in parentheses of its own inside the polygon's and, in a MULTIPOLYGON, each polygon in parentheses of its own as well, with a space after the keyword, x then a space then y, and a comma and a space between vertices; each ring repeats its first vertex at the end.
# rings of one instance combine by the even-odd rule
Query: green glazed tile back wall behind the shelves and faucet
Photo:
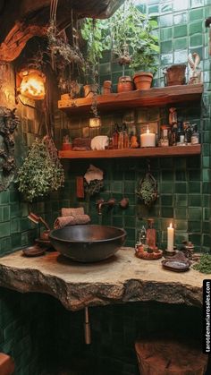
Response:
MULTIPOLYGON (((156 17, 158 21, 158 36, 161 52, 158 56, 159 69, 153 84, 164 86, 163 68, 167 64, 187 63, 190 52, 198 52, 201 57, 200 66, 203 69, 205 93, 202 103, 194 107, 177 106, 178 115, 191 123, 198 124, 200 139, 203 144, 201 157, 190 158, 160 158, 151 159, 151 169, 158 183, 159 198, 151 209, 146 209, 137 200, 135 190, 139 179, 146 170, 146 160, 137 159, 111 159, 87 160, 65 162, 67 187, 64 189, 72 205, 84 205, 91 216, 93 223, 123 226, 127 233, 127 245, 134 246, 139 228, 146 223, 148 217, 155 217, 158 243, 162 248, 166 245, 166 226, 170 220, 175 224, 176 243, 183 240, 193 241, 197 251, 210 251, 210 58, 207 54, 207 30, 204 27, 205 16, 211 13, 211 6, 200 0, 181 1, 148 1, 148 4, 139 4, 144 11, 156 17), (90 162, 102 168, 105 172, 105 189, 89 204, 87 201, 77 200, 75 197, 75 177, 84 175, 90 162), (96 200, 114 197, 120 200, 122 196, 130 199, 130 207, 125 211, 119 208, 105 209, 102 217, 97 216, 96 200)), ((128 70, 130 73, 130 70, 128 70)), ((106 53, 100 65, 100 83, 105 80, 113 81, 114 91, 118 77, 122 75, 121 67, 111 60, 111 55, 106 53)), ((63 132, 70 132, 74 138, 89 134, 105 134, 109 137, 114 132, 114 124, 121 123, 124 112, 101 114, 102 127, 99 132, 89 129, 89 117, 67 118, 57 112, 55 118, 55 139, 62 140, 63 132), (62 128, 62 130, 61 130, 62 128), (85 131, 86 129, 86 131, 85 131)), ((131 114, 132 115, 132 114, 131 114)), ((148 121, 157 121, 165 124, 168 108, 137 108, 135 118, 139 124, 148 121)), ((57 141, 58 147, 61 142, 57 141)))

